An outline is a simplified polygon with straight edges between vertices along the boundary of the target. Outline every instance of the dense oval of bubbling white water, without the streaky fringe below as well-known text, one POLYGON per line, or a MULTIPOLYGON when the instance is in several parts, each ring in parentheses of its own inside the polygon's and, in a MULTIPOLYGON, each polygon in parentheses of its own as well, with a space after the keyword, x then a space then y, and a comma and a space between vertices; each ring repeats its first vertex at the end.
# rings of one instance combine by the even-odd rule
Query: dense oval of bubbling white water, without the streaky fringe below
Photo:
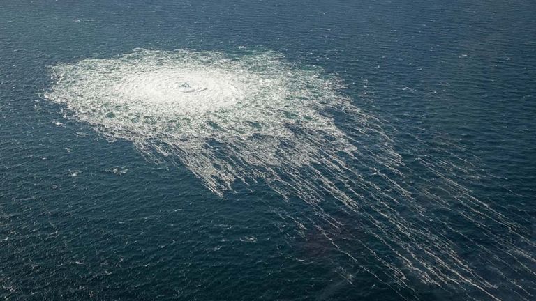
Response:
POLYGON ((288 125, 343 134, 317 106, 348 105, 315 70, 296 70, 267 53, 232 59, 216 52, 139 50, 53 68, 46 98, 107 136, 143 143, 181 139, 290 137, 288 125), (313 88, 313 89, 311 89, 313 88))

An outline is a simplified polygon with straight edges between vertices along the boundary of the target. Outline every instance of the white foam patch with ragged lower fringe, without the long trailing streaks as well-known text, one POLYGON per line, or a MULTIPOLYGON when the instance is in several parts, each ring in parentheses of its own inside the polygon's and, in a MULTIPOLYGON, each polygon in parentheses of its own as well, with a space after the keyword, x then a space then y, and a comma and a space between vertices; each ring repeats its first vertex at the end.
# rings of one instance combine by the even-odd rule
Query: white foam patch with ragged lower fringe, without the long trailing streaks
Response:
POLYGON ((222 194, 237 179, 262 176, 237 165, 311 164, 327 139, 337 146, 328 151, 355 149, 322 114, 327 107, 357 111, 336 93, 335 82, 280 59, 273 53, 232 58, 139 50, 54 67, 57 83, 45 97, 66 104, 107 137, 131 140, 142 151, 179 155, 222 194), (295 130, 310 131, 307 138, 315 141, 301 139, 295 130), (224 146, 209 143, 224 144, 237 162, 222 155, 224 146))

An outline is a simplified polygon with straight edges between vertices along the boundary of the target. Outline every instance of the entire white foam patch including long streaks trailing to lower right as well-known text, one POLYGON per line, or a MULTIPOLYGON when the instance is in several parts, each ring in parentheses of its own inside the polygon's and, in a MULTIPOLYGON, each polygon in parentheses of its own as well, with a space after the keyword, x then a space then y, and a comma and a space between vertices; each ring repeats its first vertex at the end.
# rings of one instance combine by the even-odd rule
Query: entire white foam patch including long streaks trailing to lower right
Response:
MULTIPOLYGON (((470 167, 437 165, 424 157, 422 166, 435 180, 423 180, 440 194, 406 185, 401 156, 380 121, 352 105, 339 93, 337 80, 318 68, 298 68, 272 52, 232 56, 138 49, 113 59, 58 65, 52 71, 55 83, 45 98, 64 104, 77 120, 110 139, 133 141, 147 157, 177 158, 218 195, 232 191, 237 181, 251 185, 263 180, 283 198, 308 203, 313 215, 281 212, 281 217, 304 233, 307 227, 316 229, 353 265, 395 291, 415 292, 412 275, 445 290, 470 287, 497 299, 497 286, 458 256, 459 246, 449 239, 465 237, 463 225, 435 215, 438 210, 452 211, 504 246, 502 255, 478 246, 490 265, 505 265, 501 256, 510 256, 520 263, 514 270, 533 275, 535 258, 511 238, 529 247, 533 242, 442 172, 470 172, 470 167), (347 132, 336 126, 332 111, 347 132), (420 189, 426 201, 419 202, 410 189, 420 189), (452 210, 453 204, 459 212, 452 210), (334 208, 351 217, 350 222, 332 217, 328 212, 334 208), (422 226, 432 219, 444 224, 442 233, 422 226), (366 238, 355 231, 341 237, 353 223, 362 225, 366 238), (493 232, 491 226, 506 234, 493 232), (378 245, 389 254, 379 252, 378 245), (352 253, 356 246, 382 265, 383 272, 359 261, 352 253)), ((351 282, 350 276, 346 279, 351 282)), ((515 279, 505 274, 500 281, 529 299, 515 279)))

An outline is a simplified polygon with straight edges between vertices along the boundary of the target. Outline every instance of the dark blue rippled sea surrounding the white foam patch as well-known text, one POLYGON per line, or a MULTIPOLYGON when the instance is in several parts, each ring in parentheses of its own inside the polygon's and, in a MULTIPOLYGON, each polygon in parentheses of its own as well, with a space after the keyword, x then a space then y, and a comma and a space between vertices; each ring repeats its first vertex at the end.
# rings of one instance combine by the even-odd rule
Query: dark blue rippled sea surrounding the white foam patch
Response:
POLYGON ((524 0, 1 1, 0 298, 534 300, 535 13, 524 0), (52 66, 137 48, 274 52, 340 79, 370 118, 329 112, 357 147, 341 155, 357 209, 330 190, 315 206, 284 198, 262 177, 218 196, 173 155, 147 160, 43 97, 52 66))

